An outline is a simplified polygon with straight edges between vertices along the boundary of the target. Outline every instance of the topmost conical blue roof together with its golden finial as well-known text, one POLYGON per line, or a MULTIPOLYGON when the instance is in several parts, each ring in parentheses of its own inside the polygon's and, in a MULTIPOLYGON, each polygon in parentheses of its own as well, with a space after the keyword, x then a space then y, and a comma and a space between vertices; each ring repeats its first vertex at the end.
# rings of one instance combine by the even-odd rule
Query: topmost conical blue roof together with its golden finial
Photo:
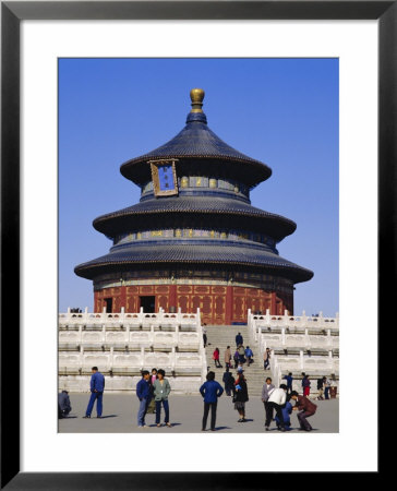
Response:
MULTIPOLYGON (((194 89, 193 89, 194 91, 194 89)), ((198 89, 196 89, 198 91, 198 89)), ((255 160, 241 152, 232 148, 219 139, 208 127, 205 113, 196 106, 202 106, 204 91, 196 99, 192 97, 192 111, 188 115, 187 125, 172 140, 158 148, 132 158, 120 167, 121 173, 137 184, 143 184, 151 180, 151 168, 148 160, 178 158, 182 159, 182 166, 188 165, 187 159, 212 159, 229 161, 228 175, 249 179, 248 184, 254 187, 268 179, 272 169, 260 160, 255 160), (201 97, 201 98, 200 98, 201 97), (246 168, 249 166, 249 168, 246 168)))

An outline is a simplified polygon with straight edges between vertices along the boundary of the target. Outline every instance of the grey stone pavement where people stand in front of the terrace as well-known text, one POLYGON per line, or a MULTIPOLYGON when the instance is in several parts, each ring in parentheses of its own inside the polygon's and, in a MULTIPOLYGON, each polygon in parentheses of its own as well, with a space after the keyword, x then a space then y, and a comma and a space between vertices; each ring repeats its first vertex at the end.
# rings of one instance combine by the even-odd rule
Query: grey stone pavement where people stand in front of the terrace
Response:
MULTIPOLYGON (((146 416, 146 424, 149 428, 137 428, 136 416, 139 400, 135 393, 131 394, 106 394, 104 395, 103 418, 97 419, 95 407, 91 419, 83 419, 88 404, 89 394, 69 394, 72 405, 72 412, 69 418, 59 420, 60 433, 202 433, 201 423, 203 418, 203 399, 200 395, 170 395, 170 422, 172 428, 157 428, 155 424, 155 415, 146 416)), ((298 430, 299 422, 297 412, 292 411, 291 422, 292 431, 289 433, 337 433, 339 431, 339 399, 314 400, 317 405, 317 411, 309 421, 315 431, 311 433, 298 430)), ((222 394, 218 402, 216 418, 216 432, 208 430, 209 418, 207 422, 208 433, 265 433, 265 411, 263 403, 258 396, 250 396, 245 404, 244 423, 239 423, 237 410, 233 408, 231 397, 222 394)), ((161 423, 164 422, 164 410, 161 410, 161 423)), ((270 431, 266 434, 284 434, 276 429, 276 423, 272 422, 270 431)))

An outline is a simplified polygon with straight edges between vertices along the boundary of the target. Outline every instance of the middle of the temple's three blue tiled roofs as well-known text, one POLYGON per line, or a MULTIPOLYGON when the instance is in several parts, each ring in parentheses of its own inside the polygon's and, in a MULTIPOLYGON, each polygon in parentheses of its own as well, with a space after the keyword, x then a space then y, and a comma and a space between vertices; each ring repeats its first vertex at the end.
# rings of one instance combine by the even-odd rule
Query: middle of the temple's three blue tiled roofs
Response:
POLYGON ((251 206, 251 204, 240 200, 215 196, 210 200, 206 196, 176 196, 146 200, 118 212, 99 216, 94 220, 94 227, 104 233, 108 233, 116 217, 132 217, 135 215, 164 213, 202 213, 221 214, 224 217, 227 215, 258 217, 264 219, 264 221, 272 221, 274 224, 273 228, 278 229, 275 237, 277 240, 279 240, 280 237, 284 238, 287 235, 292 233, 297 228, 294 221, 280 215, 255 208, 254 206, 251 206))

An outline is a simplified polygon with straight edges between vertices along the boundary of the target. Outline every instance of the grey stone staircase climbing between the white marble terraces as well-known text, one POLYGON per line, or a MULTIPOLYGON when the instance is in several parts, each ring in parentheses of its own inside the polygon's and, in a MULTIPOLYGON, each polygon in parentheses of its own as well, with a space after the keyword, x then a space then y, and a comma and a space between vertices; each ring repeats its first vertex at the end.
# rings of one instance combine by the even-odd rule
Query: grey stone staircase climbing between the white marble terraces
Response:
MULTIPOLYGON (((250 346, 254 356, 254 362, 250 367, 244 363, 244 375, 246 379, 246 385, 249 391, 249 396, 261 396, 262 386, 265 383, 265 376, 272 378, 270 370, 263 369, 263 358, 258 352, 257 344, 249 338, 249 332, 246 325, 207 325, 205 326, 207 331, 207 346, 205 348, 207 367, 216 373, 216 380, 224 386, 221 381, 225 372, 225 350, 227 346, 230 346, 231 354, 236 351, 236 335, 241 333, 243 337, 244 348, 250 346), (215 368, 215 362, 213 360, 213 352, 215 348, 219 348, 219 361, 222 368, 215 368)), ((234 364, 232 364, 234 367, 234 364)), ((236 378, 234 368, 231 369, 232 375, 236 378)))

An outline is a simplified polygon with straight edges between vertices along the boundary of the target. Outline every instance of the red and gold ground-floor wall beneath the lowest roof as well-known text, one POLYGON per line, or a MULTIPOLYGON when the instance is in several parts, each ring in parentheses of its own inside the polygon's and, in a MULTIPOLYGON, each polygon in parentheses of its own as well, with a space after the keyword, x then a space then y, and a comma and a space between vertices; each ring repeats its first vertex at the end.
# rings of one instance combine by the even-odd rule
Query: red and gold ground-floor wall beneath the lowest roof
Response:
POLYGON ((166 312, 170 308, 181 308, 182 312, 202 313, 206 324, 231 324, 246 322, 246 311, 266 312, 282 315, 285 310, 293 314, 293 296, 287 292, 264 291, 260 288, 213 285, 140 285, 105 288, 95 291, 94 310, 101 312, 105 299, 112 299, 112 311, 139 312, 141 297, 155 297, 155 311, 161 307, 166 312))

